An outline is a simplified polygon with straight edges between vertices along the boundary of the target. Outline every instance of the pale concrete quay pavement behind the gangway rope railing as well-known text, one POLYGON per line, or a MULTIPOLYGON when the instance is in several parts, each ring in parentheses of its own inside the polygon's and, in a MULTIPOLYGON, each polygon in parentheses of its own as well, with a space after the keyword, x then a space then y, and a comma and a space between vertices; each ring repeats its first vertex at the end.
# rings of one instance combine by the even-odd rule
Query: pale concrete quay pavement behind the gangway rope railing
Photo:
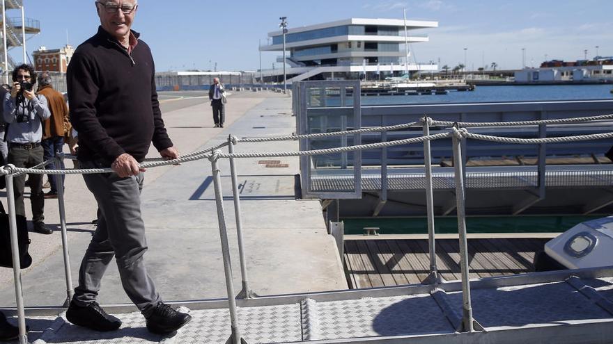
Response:
MULTIPOLYGON (((182 153, 211 147, 238 137, 288 135, 295 130, 290 98, 271 92, 236 92, 228 97, 226 128, 212 126, 206 99, 166 100, 164 121, 182 153), (189 101, 187 107, 180 102, 189 101), (195 104, 194 104, 195 103, 195 104)), ((297 150, 297 142, 239 144, 236 151, 297 150)), ((157 156, 152 149, 150 156, 157 156)), ((288 167, 270 168, 254 159, 238 159, 245 250, 251 288, 260 295, 347 288, 341 259, 328 236, 320 204, 293 195, 297 158, 282 158, 288 167)), ((70 163, 69 163, 70 165, 70 163)), ((224 208, 228 221, 233 279, 240 290, 233 201, 228 161, 220 162, 224 208)), ((225 297, 225 283, 208 161, 156 167, 146 172, 143 218, 147 226, 146 262, 164 300, 225 297)), ((27 202, 27 201, 26 201, 27 202)), ((59 224, 56 200, 45 204, 48 224, 59 224)), ((26 208, 29 206, 26 204, 26 208)), ((74 284, 79 263, 91 239, 95 202, 81 176, 66 178, 66 208, 70 262, 74 284)), ((51 236, 31 234, 35 263, 23 270, 28 306, 57 305, 65 299, 59 231, 51 236)), ((14 306, 13 272, 0 269, 0 305, 14 306)), ((129 303, 111 264, 104 277, 100 302, 129 303)))

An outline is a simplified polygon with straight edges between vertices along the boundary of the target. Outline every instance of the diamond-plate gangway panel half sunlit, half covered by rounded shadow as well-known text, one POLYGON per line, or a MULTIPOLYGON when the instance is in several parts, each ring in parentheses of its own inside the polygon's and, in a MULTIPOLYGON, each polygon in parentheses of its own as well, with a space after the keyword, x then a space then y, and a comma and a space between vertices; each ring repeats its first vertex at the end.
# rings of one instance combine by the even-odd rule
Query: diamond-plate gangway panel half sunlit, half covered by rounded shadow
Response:
POLYGON ((453 333, 430 295, 316 302, 315 339, 453 333))

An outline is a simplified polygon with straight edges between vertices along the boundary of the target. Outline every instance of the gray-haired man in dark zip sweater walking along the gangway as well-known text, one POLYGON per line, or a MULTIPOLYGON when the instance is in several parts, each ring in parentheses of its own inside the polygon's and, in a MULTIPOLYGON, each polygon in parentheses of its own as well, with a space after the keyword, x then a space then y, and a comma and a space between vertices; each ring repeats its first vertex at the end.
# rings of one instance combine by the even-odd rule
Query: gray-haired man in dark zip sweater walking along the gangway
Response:
POLYGON ((111 166, 113 173, 84 174, 98 202, 98 227, 81 268, 66 318, 75 325, 112 331, 121 321, 96 302, 104 271, 115 256, 121 284, 146 318, 147 329, 168 334, 191 317, 162 302, 143 254, 147 250, 141 218, 139 167, 153 142, 163 158, 178 152, 166 134, 155 91, 155 70, 148 45, 130 28, 136 0, 95 3, 98 33, 79 45, 68 66, 70 121, 79 132, 77 158, 82 168, 111 166))

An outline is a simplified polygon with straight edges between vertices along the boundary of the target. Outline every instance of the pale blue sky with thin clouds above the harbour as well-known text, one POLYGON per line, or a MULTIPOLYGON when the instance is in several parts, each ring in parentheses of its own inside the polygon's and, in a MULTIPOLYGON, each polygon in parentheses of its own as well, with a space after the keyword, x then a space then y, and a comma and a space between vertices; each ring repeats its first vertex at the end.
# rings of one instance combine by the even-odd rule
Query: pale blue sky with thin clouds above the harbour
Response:
MULTIPOLYGON (((93 0, 24 0, 26 17, 40 20, 41 33, 27 41, 29 54, 44 45, 77 46, 95 33, 98 17, 93 0)), ((522 48, 526 64, 538 66, 545 59, 575 60, 596 54, 613 56, 613 1, 610 0, 309 0, 309 1, 210 1, 139 0, 134 28, 153 50, 158 71, 208 69, 254 70, 258 68, 258 40, 277 30, 279 17, 288 27, 331 22, 349 17, 408 19, 439 22, 438 28, 415 31, 428 34, 430 42, 412 44, 418 62, 453 67, 464 62, 477 68, 496 62, 499 68, 518 68, 522 48), (210 61, 210 62, 209 62, 210 61)), ((20 16, 11 10, 8 17, 20 16)), ((13 49, 15 60, 22 59, 13 49)), ((262 54, 263 68, 270 68, 279 53, 262 54)))

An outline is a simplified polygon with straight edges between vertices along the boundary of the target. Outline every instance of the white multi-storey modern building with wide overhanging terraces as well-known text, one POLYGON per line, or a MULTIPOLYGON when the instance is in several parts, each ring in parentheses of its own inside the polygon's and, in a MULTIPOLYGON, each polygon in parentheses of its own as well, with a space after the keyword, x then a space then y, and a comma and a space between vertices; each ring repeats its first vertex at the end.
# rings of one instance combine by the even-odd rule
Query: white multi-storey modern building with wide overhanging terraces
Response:
MULTIPOLYGON (((351 18, 286 31, 288 83, 301 80, 383 79, 408 72, 436 71, 437 65, 419 65, 407 56, 405 42, 428 42, 427 35, 411 31, 438 27, 438 22, 403 19, 351 18), (405 31, 406 28, 406 31, 405 31)), ((283 51, 283 32, 268 33, 261 51, 283 51)), ((264 81, 283 81, 283 58, 263 69, 264 81)), ((259 75, 256 75, 259 77, 259 75)), ((259 78, 258 78, 259 79, 259 78)))

